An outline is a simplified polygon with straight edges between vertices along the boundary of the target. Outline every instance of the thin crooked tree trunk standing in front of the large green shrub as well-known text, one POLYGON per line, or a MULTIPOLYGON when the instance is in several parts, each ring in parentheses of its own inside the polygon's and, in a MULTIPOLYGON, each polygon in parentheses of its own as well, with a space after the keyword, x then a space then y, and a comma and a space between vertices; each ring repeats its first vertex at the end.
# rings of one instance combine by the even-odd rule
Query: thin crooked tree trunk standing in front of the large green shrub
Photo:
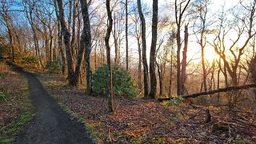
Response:
POLYGON ((113 19, 111 16, 110 10, 110 0, 106 0, 106 11, 107 11, 107 18, 108 18, 108 25, 106 30, 106 37, 105 37, 105 46, 106 46, 106 61, 108 66, 108 83, 109 83, 109 94, 108 94, 108 108, 110 112, 114 111, 114 92, 113 92, 113 82, 112 82, 112 68, 110 62, 110 34, 113 26, 113 19))

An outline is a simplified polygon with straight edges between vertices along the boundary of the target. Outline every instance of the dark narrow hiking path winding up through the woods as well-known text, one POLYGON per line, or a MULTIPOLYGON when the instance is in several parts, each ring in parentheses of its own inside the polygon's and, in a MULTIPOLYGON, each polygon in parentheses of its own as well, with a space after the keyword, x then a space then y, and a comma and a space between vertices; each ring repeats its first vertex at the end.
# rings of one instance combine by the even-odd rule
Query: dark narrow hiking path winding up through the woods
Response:
POLYGON ((15 143, 92 143, 81 123, 69 114, 43 88, 34 74, 14 66, 14 70, 28 79, 30 97, 35 107, 34 119, 18 134, 15 143))

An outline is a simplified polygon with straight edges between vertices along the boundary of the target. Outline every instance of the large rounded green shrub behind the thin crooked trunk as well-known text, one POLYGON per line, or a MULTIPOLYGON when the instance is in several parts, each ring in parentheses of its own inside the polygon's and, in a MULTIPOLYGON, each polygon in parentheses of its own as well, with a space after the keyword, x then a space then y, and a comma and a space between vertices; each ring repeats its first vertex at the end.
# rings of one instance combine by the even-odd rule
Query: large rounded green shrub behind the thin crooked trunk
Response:
MULTIPOLYGON (((93 74, 93 90, 97 94, 106 95, 108 90, 107 66, 99 67, 93 74)), ((138 95, 138 86, 126 70, 118 65, 112 66, 112 80, 114 94, 134 98, 138 95)))

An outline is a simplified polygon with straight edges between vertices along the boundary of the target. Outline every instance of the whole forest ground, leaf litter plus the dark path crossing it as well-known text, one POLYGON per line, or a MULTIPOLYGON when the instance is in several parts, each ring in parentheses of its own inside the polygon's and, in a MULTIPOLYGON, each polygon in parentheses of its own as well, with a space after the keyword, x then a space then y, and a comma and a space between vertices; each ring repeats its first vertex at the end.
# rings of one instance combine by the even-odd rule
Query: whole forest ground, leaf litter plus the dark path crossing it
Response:
POLYGON ((115 111, 110 113, 106 96, 86 95, 82 86, 70 88, 62 75, 18 70, 26 80, 0 68, 0 90, 10 95, 0 101, 0 143, 14 142, 17 135, 17 143, 90 143, 82 123, 98 143, 256 143, 255 109, 230 118, 216 106, 165 106, 152 99, 115 98, 115 111))

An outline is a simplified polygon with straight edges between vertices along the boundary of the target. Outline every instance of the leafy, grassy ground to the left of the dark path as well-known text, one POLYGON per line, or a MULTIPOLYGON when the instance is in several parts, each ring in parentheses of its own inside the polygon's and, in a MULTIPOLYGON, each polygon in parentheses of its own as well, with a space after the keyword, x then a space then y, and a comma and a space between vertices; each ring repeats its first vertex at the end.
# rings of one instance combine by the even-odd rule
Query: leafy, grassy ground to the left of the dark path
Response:
POLYGON ((0 62, 0 143, 14 142, 18 131, 32 118, 27 80, 0 62))

